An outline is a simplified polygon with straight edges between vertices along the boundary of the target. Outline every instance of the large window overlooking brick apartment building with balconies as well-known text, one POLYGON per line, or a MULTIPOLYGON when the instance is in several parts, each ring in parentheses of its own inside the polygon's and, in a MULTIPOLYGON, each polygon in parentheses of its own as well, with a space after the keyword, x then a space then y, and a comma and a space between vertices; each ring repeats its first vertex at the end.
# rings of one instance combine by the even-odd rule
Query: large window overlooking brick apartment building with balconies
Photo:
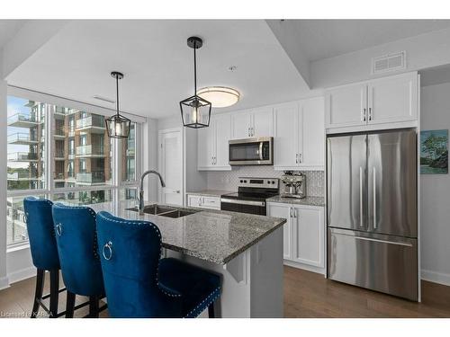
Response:
POLYGON ((94 110, 8 96, 8 245, 28 240, 23 218, 26 196, 76 205, 135 199, 139 124, 132 123, 130 138, 112 139, 103 115, 94 110), (120 157, 117 167, 114 154, 120 157), (114 182, 115 174, 119 182, 114 182))

